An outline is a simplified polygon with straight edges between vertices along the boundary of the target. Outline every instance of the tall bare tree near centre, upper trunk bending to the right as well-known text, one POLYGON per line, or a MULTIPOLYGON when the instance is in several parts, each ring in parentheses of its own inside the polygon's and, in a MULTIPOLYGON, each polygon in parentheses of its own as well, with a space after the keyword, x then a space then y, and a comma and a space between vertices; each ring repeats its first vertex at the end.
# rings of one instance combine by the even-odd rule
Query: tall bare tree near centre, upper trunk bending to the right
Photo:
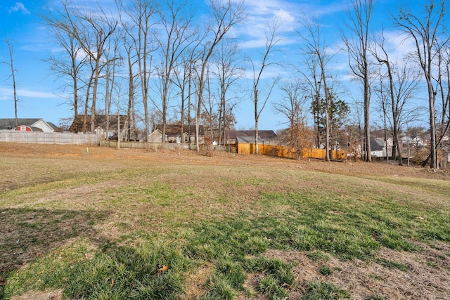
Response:
POLYGON ((212 25, 208 28, 208 33, 212 37, 208 39, 206 36, 203 40, 203 49, 198 56, 198 63, 200 72, 198 72, 198 98, 197 107, 195 110, 195 141, 197 143, 197 150, 200 150, 198 145, 198 135, 200 129, 200 114, 203 105, 203 89, 205 89, 205 72, 207 64, 212 56, 212 53, 219 42, 224 39, 225 35, 233 25, 242 22, 244 18, 244 8, 242 2, 232 0, 220 1, 210 0, 212 25))

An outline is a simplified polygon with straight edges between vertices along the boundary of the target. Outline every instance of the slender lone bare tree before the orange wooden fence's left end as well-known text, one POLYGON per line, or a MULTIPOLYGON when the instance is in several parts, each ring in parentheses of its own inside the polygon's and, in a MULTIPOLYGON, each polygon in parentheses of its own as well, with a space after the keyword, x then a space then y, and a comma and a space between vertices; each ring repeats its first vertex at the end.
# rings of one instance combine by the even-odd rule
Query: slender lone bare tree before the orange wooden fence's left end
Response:
POLYGON ((252 84, 252 101, 255 105, 255 154, 259 154, 258 150, 258 123, 259 117, 261 116, 264 107, 266 106, 267 101, 271 96, 271 93, 274 89, 274 86, 278 84, 279 78, 274 78, 268 84, 266 89, 262 88, 262 74, 270 65, 276 65, 276 62, 269 62, 269 58, 272 53, 275 51, 275 46, 280 41, 279 30, 280 22, 278 20, 274 20, 272 25, 268 25, 268 32, 266 32, 266 45, 264 51, 261 53, 262 58, 258 65, 254 60, 250 60, 252 64, 252 72, 253 72, 253 84, 252 84), (264 92, 261 93, 261 92, 264 92))

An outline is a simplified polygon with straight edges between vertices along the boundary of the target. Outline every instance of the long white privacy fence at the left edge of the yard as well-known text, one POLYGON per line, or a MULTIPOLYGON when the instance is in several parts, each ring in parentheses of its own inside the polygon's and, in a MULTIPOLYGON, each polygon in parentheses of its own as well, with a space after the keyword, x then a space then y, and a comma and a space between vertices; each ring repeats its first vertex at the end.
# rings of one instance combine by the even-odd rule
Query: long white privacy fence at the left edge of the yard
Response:
POLYGON ((0 142, 12 143, 98 144, 101 138, 99 134, 0 131, 0 142))

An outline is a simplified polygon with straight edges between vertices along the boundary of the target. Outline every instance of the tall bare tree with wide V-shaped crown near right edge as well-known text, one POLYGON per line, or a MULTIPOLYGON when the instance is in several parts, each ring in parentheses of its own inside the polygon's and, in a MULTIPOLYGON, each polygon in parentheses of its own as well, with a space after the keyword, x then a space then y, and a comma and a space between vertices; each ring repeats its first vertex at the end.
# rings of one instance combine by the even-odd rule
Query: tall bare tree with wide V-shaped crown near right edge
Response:
MULTIPOLYGON (((430 168, 435 169, 437 164, 437 136, 436 136, 436 108, 433 73, 435 72, 435 59, 439 51, 448 44, 449 37, 444 37, 441 42, 439 34, 445 32, 444 12, 445 1, 435 6, 434 1, 425 5, 423 15, 414 15, 409 9, 401 9, 398 18, 394 18, 394 25, 399 27, 406 38, 413 39, 413 57, 420 65, 428 88, 428 110, 430 122, 430 168)), ((425 167, 425 165, 423 165, 425 167)))

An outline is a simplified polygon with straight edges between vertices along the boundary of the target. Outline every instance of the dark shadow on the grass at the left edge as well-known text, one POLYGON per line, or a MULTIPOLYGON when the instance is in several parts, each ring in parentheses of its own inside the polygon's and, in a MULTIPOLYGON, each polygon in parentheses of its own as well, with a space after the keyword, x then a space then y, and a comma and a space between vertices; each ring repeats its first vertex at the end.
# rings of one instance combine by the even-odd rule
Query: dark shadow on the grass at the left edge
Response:
POLYGON ((101 238, 94 224, 107 211, 0 209, 0 296, 8 273, 79 236, 101 238))

